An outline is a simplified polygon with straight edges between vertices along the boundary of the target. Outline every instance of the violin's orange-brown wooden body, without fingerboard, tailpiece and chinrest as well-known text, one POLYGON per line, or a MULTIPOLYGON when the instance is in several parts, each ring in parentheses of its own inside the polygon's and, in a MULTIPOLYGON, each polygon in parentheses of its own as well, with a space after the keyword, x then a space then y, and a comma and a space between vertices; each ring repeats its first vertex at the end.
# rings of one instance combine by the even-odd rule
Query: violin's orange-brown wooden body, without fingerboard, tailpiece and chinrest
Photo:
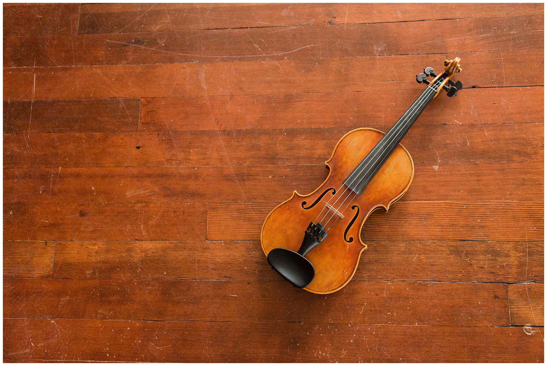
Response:
MULTIPOLYGON (((340 139, 330 159, 325 161, 329 175, 319 188, 307 195, 294 191, 292 197, 267 216, 260 233, 260 242, 266 256, 278 247, 299 250, 304 238, 302 227, 325 214, 325 201, 331 199, 334 202, 337 197, 344 199, 350 194, 343 185, 344 179, 383 135, 379 130, 359 128, 340 139)), ((351 280, 361 253, 366 249, 360 237, 366 218, 375 209, 383 208, 387 211, 389 205, 408 190, 412 176, 412 158, 399 144, 363 192, 353 195, 348 200, 351 203, 346 201, 335 210, 340 215, 330 210, 331 214, 337 216, 331 221, 333 224, 329 227, 328 236, 306 254, 306 259, 315 267, 315 277, 304 287, 305 290, 331 293, 340 290, 351 280)))

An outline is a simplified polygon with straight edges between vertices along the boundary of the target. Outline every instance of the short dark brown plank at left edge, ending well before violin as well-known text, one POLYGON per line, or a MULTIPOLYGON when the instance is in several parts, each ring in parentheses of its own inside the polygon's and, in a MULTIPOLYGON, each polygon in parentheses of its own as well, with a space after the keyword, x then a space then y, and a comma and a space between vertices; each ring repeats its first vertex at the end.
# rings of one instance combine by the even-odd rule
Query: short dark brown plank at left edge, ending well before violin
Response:
POLYGON ((137 98, 4 101, 4 134, 136 132, 140 110, 137 98))

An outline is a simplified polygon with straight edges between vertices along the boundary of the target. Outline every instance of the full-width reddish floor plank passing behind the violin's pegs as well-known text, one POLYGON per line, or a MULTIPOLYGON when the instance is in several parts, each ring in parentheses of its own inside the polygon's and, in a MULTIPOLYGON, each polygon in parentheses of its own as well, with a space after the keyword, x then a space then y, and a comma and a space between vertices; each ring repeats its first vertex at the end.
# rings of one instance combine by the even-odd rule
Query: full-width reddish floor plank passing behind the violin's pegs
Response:
MULTIPOLYGON (((503 55, 499 51, 479 52, 459 56, 464 58, 464 70, 481 70, 480 73, 462 73, 461 80, 466 87, 543 85, 543 69, 522 67, 523 64, 542 64, 543 50, 503 51, 503 55), (488 60, 487 69, 484 68, 485 60, 488 60), (499 77, 503 74, 505 79, 499 77)), ((4 69, 3 95, 4 100, 30 100, 357 91, 379 93, 395 88, 399 91, 417 90, 413 76, 417 70, 423 69, 424 65, 438 67, 445 58, 443 54, 280 60, 275 63, 251 61, 13 68, 4 69), (391 74, 382 75, 385 74, 384 70, 397 70, 402 79, 394 79, 391 74)))

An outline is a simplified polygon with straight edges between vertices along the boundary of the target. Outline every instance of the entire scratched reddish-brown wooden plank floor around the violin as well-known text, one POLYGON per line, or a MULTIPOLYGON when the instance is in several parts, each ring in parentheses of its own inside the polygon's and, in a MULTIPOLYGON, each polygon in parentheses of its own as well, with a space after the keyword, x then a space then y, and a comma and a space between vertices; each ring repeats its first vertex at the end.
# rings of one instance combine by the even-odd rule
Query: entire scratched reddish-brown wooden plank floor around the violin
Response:
POLYGON ((3 11, 4 361, 543 362, 543 4, 3 11), (294 289, 266 214, 455 56, 353 279, 294 289))

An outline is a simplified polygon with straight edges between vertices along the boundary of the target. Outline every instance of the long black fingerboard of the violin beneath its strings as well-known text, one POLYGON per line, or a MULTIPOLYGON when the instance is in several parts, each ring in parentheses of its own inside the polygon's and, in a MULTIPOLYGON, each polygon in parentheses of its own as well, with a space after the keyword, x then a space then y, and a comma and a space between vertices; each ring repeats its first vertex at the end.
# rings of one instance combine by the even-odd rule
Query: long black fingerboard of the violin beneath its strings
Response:
POLYGON ((345 179, 344 184, 360 195, 366 185, 374 178, 376 172, 385 163, 389 155, 393 152, 399 142, 412 127, 412 124, 420 117, 423 110, 426 109, 430 101, 437 94, 437 90, 428 86, 426 90, 420 94, 420 97, 412 103, 410 108, 398 119, 392 128, 383 135, 382 139, 374 146, 374 148, 361 160, 359 165, 345 179))

